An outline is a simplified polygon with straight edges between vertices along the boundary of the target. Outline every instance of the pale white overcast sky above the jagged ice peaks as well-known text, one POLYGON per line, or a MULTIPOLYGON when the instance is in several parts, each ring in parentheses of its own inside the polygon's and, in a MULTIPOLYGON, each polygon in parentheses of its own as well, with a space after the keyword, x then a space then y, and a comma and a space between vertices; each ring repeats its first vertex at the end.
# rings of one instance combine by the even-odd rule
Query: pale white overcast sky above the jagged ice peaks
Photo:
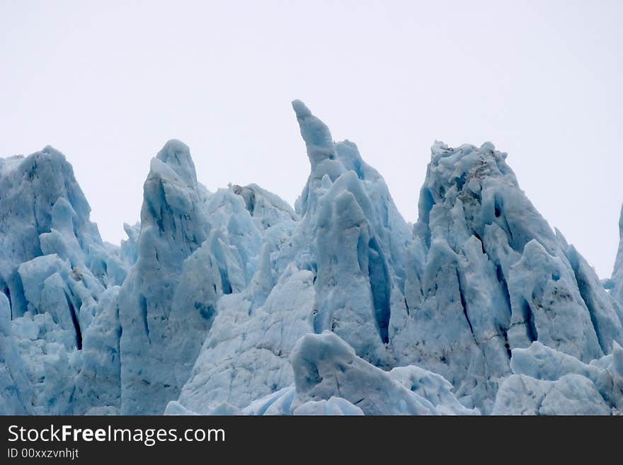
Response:
POLYGON ((622 23, 616 0, 0 0, 0 156, 62 151, 118 243, 171 138, 210 190, 254 182, 293 204, 309 172, 301 98, 411 222, 433 141, 490 140, 605 277, 623 200, 622 23))

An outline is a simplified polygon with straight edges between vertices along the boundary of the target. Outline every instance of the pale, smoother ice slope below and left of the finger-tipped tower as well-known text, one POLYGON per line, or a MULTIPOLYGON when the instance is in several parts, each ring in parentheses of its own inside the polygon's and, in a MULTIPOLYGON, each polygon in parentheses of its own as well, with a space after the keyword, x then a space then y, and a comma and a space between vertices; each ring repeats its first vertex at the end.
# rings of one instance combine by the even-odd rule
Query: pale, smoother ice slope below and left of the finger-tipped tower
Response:
POLYGON ((270 291, 265 285, 270 274, 263 283, 262 272, 248 291, 219 301, 213 329, 179 399, 190 410, 207 413, 222 401, 242 408, 292 384, 288 357, 296 341, 312 331, 314 277, 292 267, 270 291), (270 294, 257 306, 266 289, 270 294))

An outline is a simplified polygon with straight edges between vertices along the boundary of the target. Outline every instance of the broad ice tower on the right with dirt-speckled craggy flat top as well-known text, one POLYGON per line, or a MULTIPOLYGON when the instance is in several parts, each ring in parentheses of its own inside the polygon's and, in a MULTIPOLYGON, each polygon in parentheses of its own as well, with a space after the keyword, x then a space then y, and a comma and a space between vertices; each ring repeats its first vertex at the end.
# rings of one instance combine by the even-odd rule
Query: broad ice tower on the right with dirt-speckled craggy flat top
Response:
POLYGON ((432 152, 396 358, 442 374, 487 413, 515 348, 538 340, 590 362, 621 343, 617 305, 520 190, 506 154, 488 142, 432 152))

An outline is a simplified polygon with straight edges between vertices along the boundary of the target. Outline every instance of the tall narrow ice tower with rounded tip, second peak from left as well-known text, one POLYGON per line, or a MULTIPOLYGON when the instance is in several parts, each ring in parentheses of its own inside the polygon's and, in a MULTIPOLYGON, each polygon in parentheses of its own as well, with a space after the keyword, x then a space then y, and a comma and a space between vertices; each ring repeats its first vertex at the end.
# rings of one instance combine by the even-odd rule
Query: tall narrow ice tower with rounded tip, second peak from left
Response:
POLYGON ((177 398, 210 324, 194 306, 172 310, 183 263, 210 230, 182 142, 167 142, 152 159, 140 228, 137 260, 119 296, 124 414, 162 413, 177 398))

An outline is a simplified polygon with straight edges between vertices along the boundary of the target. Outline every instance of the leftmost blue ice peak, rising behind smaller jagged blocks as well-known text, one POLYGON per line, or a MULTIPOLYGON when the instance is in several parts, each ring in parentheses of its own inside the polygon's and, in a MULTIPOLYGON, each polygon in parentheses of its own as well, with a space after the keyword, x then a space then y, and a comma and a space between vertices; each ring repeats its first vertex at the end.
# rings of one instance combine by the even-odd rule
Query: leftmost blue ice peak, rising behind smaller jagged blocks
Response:
MULTIPOLYGON (((18 266, 56 254, 101 285, 120 284, 125 270, 91 222, 72 166, 52 147, 0 159, 0 291, 13 317, 28 310, 18 266)), ((35 304, 34 302, 30 302, 35 304)))

